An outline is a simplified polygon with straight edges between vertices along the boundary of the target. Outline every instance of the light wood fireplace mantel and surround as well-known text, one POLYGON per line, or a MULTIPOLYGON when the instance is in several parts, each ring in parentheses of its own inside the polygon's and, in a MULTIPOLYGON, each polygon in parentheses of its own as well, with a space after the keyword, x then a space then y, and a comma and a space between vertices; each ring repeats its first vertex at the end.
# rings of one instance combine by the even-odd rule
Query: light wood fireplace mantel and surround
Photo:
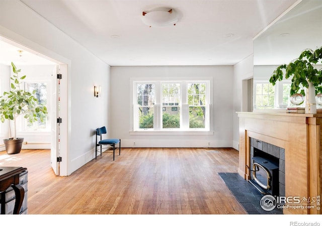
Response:
MULTIPOLYGON (((239 175, 250 179, 250 137, 285 149, 285 196, 321 195, 322 114, 237 112, 239 175)), ((320 214, 318 208, 283 209, 284 214, 320 214)))

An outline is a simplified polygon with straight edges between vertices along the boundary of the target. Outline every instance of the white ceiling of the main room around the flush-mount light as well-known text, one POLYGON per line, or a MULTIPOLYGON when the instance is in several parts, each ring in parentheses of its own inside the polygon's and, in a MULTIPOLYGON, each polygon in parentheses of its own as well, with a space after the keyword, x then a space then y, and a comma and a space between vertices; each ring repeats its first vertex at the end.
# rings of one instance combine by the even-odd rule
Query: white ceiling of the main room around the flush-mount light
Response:
POLYGON ((253 54, 253 38, 296 0, 21 2, 111 66, 172 66, 238 63, 253 54), (179 12, 176 26, 142 23, 142 12, 157 7, 179 12))

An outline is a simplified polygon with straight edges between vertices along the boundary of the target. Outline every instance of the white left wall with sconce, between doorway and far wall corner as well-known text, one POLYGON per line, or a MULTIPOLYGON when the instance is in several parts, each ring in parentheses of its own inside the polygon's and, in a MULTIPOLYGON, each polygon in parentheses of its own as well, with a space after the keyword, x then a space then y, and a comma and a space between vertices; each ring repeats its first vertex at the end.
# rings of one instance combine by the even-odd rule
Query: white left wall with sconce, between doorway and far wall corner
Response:
POLYGON ((94 85, 108 90, 109 66, 19 1, 0 1, 0 35, 41 54, 68 64, 66 106, 68 153, 63 157, 66 175, 94 156, 97 127, 107 124, 108 93, 94 97, 94 85))

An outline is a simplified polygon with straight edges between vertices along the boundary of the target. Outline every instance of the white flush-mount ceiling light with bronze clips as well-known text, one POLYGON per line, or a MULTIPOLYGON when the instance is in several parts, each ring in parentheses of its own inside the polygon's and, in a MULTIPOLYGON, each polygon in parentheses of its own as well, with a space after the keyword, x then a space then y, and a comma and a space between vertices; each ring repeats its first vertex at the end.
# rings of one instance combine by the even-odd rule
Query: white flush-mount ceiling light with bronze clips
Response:
POLYGON ((173 9, 157 8, 142 12, 142 21, 149 27, 166 27, 176 25, 178 14, 173 9))

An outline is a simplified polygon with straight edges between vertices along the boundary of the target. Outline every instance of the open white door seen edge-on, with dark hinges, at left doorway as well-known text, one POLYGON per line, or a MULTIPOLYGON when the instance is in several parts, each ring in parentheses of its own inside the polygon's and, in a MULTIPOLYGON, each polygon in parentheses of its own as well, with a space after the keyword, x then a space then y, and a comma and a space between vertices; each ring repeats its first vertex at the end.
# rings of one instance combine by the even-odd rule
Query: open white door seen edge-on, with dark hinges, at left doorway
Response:
POLYGON ((54 170, 56 175, 59 175, 59 157, 60 157, 60 150, 59 150, 59 126, 60 123, 57 123, 57 119, 59 117, 59 88, 60 88, 60 79, 57 78, 59 73, 59 65, 57 65, 52 74, 51 80, 51 167, 54 170))

